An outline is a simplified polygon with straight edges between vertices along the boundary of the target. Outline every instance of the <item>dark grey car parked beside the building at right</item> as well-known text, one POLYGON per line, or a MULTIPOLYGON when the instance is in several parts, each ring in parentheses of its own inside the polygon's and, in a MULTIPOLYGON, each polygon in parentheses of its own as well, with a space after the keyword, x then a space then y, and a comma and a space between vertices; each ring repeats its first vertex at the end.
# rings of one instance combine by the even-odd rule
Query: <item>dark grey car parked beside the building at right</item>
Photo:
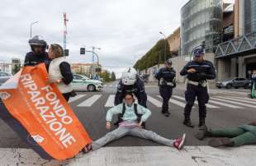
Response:
POLYGON ((225 81, 217 81, 216 87, 230 89, 243 87, 244 89, 249 88, 250 81, 246 78, 229 78, 225 81))

